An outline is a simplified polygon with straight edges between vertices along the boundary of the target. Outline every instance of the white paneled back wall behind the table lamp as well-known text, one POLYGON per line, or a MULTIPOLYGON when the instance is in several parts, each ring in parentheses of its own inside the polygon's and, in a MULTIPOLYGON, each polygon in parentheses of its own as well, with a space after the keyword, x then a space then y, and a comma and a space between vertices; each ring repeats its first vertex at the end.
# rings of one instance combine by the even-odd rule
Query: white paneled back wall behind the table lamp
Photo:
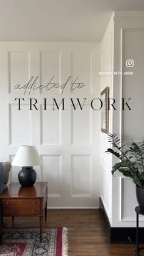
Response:
MULTIPOLYGON (((35 167, 37 181, 48 181, 49 207, 98 207, 100 112, 90 102, 99 98, 99 43, 6 42, 0 48, 1 161, 12 161, 19 145, 35 145, 43 166, 35 167), (36 85, 49 81, 67 86, 51 90, 16 90, 38 76, 36 85), (78 78, 77 78, 78 76, 78 78), (53 77, 53 78, 52 78, 53 77), (85 84, 70 90, 71 84, 85 84), (22 98, 21 110, 18 100, 22 98), (29 98, 37 104, 29 107, 29 98), (46 104, 44 102, 46 98, 46 104), (64 109, 56 108, 53 98, 64 109), (74 110, 70 101, 84 103, 74 110), (45 110, 46 108, 46 110, 45 110)), ((34 82, 34 79, 31 83, 34 82)), ((52 84, 51 84, 52 86, 52 84)), ((18 181, 19 167, 12 167, 10 181, 18 181)))

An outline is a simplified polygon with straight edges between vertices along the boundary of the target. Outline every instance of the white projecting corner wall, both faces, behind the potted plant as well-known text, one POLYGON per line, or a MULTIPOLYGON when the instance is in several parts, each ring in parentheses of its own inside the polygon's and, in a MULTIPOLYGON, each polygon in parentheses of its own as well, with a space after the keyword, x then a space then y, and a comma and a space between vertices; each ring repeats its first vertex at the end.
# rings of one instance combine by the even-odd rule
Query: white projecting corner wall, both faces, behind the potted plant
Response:
MULTIPOLYGON (((110 67, 112 71, 133 71, 134 75, 101 78, 101 89, 110 86, 110 97, 113 96, 117 102, 117 111, 110 112, 109 132, 117 133, 128 144, 132 141, 140 142, 144 135, 144 12, 115 12, 113 21, 110 22, 111 29, 109 24, 101 43, 101 68, 104 71, 109 71, 110 67), (113 48, 109 39, 112 32, 113 48), (134 67, 126 66, 127 59, 134 60, 134 67), (131 111, 121 111, 121 98, 131 98, 131 111)), ((110 170, 117 159, 110 159, 110 156, 104 154, 107 147, 107 134, 101 133, 101 197, 107 216, 112 227, 135 227, 135 185, 131 179, 119 173, 112 177, 110 170)), ((140 226, 144 226, 143 217, 140 218, 140 226)))

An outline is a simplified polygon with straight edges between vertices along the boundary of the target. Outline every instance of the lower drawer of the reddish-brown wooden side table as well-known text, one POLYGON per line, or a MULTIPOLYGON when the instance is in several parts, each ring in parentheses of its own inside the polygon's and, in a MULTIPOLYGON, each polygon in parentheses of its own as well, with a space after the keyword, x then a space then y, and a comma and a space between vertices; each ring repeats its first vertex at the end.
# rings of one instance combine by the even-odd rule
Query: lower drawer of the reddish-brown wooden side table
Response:
POLYGON ((2 207, 2 214, 4 215, 23 215, 23 214, 30 214, 30 215, 35 215, 40 213, 40 208, 39 207, 26 207, 26 208, 17 208, 17 207, 7 207, 3 206, 2 207))

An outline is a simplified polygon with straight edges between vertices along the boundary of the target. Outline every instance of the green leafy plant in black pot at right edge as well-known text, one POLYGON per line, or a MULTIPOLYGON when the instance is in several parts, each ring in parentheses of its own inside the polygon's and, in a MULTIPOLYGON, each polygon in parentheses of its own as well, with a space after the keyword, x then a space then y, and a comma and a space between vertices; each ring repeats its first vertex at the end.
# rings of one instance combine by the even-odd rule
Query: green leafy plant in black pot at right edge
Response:
POLYGON ((132 142, 130 146, 121 145, 117 134, 108 135, 113 148, 108 148, 106 153, 112 153, 120 162, 112 167, 112 174, 117 170, 134 182, 137 202, 144 211, 144 140, 139 144, 132 142), (126 150, 123 148, 126 147, 126 150))

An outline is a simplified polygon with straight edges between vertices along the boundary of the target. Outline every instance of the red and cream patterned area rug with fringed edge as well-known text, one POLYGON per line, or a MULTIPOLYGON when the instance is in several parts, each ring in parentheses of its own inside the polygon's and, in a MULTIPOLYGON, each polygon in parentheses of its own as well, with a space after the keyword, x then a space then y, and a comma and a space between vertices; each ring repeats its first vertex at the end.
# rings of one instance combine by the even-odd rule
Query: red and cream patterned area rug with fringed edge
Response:
POLYGON ((4 229, 1 256, 67 256, 68 229, 65 227, 43 229, 40 243, 39 229, 4 229))

